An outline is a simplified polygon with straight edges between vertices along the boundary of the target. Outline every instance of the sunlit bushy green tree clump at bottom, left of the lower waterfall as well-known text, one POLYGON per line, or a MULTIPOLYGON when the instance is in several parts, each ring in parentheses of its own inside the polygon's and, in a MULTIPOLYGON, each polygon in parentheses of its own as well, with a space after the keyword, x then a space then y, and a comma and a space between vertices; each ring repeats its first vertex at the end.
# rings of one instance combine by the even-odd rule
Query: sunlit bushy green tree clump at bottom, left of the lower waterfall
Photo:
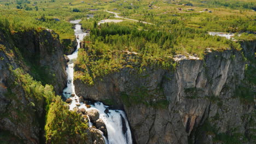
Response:
POLYGON ((73 111, 69 111, 57 96, 50 105, 45 124, 46 143, 62 143, 85 141, 88 123, 73 111))

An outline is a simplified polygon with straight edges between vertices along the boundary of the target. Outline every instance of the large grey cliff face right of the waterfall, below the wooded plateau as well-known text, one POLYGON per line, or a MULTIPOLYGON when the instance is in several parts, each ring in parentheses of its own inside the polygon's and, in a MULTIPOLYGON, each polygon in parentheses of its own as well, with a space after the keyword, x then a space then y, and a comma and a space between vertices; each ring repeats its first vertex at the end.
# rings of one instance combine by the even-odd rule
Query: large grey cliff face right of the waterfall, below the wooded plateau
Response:
POLYGON ((242 103, 235 94, 245 76, 241 52, 176 61, 174 71, 122 69, 91 87, 75 80, 75 92, 124 109, 136 143, 213 143, 224 141, 220 135, 249 139, 254 104, 242 103))

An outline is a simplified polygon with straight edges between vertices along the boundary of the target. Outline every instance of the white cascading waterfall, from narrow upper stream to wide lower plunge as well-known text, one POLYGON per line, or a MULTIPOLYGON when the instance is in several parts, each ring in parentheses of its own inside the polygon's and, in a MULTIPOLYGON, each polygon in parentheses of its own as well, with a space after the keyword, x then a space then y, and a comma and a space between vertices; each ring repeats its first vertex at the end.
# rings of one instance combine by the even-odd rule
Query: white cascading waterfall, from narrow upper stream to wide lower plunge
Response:
MULTIPOLYGON (((78 56, 78 49, 80 48, 80 40, 83 40, 86 33, 84 33, 81 29, 81 25, 79 25, 80 20, 71 21, 71 23, 75 24, 75 37, 77 37, 77 50, 75 50, 72 55, 68 55, 69 58, 68 66, 66 68, 66 72, 68 74, 67 78, 67 87, 63 90, 63 95, 66 98, 71 98, 72 103, 69 105, 69 110, 73 110, 77 104, 80 104, 80 108, 84 108, 86 111, 96 109, 100 113, 100 118, 106 125, 108 139, 104 137, 106 143, 109 144, 131 144, 132 137, 131 131, 129 127, 129 123, 127 121, 126 115, 121 110, 109 110, 108 106, 103 105, 101 102, 94 103, 90 108, 87 108, 84 103, 79 102, 79 97, 75 94, 74 90, 74 61, 78 56), (71 97, 71 94, 74 94, 74 97, 71 97), (77 99, 77 102, 76 100, 77 99), (106 112, 107 111, 107 112, 106 112)), ((90 121, 90 119, 89 119, 90 121)), ((92 127, 92 123, 89 122, 89 127, 92 127)), ((102 133, 102 132, 101 132, 102 133)), ((102 133, 103 134, 103 133, 102 133)))

